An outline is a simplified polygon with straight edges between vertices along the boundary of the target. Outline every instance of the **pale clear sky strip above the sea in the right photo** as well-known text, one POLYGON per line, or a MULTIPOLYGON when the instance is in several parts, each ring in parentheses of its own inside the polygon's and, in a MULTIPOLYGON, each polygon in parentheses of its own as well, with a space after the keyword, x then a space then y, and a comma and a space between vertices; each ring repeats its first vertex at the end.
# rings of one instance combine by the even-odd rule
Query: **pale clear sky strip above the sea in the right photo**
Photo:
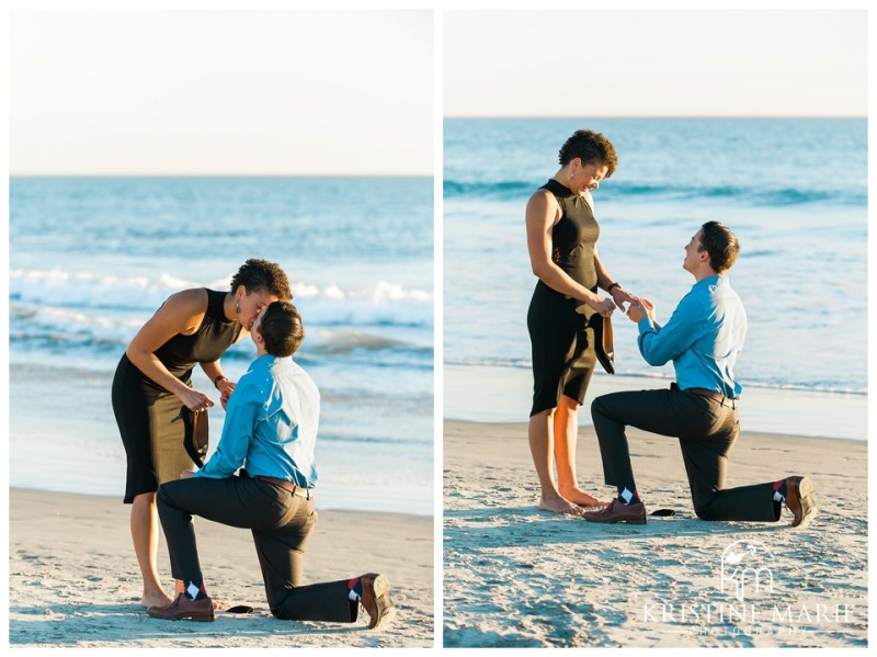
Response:
POLYGON ((444 115, 865 116, 867 29, 864 10, 445 12, 444 115))

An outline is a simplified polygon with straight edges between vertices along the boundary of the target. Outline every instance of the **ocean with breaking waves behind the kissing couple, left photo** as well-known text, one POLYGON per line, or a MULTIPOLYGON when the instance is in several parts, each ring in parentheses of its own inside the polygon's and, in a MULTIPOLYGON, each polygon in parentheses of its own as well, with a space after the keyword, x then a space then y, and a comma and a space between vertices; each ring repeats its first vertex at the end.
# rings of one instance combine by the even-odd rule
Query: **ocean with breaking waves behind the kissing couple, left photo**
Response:
MULTIPOLYGON (((430 179, 13 178, 11 484, 121 499, 119 356, 170 294, 227 290, 248 258, 284 268, 305 321, 319 506, 431 514, 430 179)), ((254 353, 241 341, 224 371, 236 380, 254 353)), ((198 369, 193 384, 215 393, 198 369)))

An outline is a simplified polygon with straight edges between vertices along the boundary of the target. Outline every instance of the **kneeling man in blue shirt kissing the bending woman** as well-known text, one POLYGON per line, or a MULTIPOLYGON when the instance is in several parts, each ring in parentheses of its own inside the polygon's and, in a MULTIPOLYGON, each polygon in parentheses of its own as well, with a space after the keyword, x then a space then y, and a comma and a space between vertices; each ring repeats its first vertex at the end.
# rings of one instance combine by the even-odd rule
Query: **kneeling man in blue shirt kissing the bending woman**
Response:
POLYGON ((252 530, 274 616, 352 623, 362 604, 369 628, 394 618, 383 575, 299 586, 305 546, 317 522, 314 445, 320 410, 316 384, 291 358, 304 335, 298 310, 288 302, 274 302, 259 315, 251 331, 258 355, 229 399, 216 453, 201 471, 159 487, 171 569, 185 590, 171 604, 150 607, 150 616, 214 620, 192 522, 201 516, 252 530), (236 476, 243 465, 247 469, 236 476))

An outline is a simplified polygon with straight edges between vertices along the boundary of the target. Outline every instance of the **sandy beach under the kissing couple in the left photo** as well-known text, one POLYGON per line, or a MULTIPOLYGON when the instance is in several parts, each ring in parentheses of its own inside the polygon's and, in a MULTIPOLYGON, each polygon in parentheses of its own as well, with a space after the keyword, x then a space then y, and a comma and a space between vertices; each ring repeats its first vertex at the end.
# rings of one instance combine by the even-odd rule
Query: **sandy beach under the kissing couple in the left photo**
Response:
MULTIPOLYGON (((319 510, 319 505, 318 505, 319 510)), ((226 608, 214 623, 151 619, 139 607, 140 579, 128 532, 129 507, 99 496, 10 490, 9 642, 12 647, 432 647, 433 519, 320 512, 307 552, 305 582, 366 571, 385 574, 395 622, 369 632, 352 625, 278 621, 265 601, 249 532, 195 520, 210 596, 226 608)), ((159 573, 172 590, 163 536, 159 573)))

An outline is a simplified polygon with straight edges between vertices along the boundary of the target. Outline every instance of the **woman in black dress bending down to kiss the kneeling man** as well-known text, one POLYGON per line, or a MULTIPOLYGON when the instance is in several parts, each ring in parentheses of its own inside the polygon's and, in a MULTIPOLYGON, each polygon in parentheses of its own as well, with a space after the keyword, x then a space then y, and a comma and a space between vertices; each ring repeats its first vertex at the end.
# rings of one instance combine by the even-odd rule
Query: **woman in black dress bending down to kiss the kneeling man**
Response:
POLYGON ((223 375, 220 356, 249 332, 263 308, 292 297, 278 265, 248 260, 231 279, 229 292, 198 287, 172 294, 134 337, 118 363, 113 412, 127 454, 125 503, 132 505, 130 534, 144 577, 140 604, 145 608, 171 602, 156 570, 156 491, 194 465, 183 446, 181 409, 185 406, 197 412, 214 405, 192 387, 195 363, 213 381, 225 406, 235 384, 223 375))

